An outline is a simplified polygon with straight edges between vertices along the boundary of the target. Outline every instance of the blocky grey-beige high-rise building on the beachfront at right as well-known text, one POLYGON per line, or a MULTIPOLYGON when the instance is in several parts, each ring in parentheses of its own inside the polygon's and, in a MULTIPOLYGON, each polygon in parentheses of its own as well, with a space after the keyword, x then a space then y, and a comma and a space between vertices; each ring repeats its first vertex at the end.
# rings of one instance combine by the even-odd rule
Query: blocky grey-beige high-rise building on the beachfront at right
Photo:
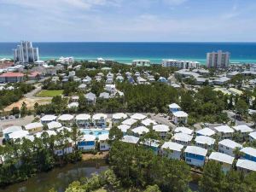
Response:
POLYGON ((227 68, 230 64, 230 53, 218 52, 207 53, 207 67, 208 68, 227 68))

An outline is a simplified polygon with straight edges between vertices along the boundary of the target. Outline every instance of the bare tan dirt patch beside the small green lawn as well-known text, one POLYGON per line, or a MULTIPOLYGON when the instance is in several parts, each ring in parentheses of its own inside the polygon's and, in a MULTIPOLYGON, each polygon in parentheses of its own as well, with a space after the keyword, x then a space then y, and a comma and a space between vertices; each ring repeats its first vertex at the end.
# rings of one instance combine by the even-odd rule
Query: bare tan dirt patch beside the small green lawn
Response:
POLYGON ((22 98, 19 102, 14 102, 8 107, 4 108, 4 111, 11 111, 14 107, 21 108, 22 102, 26 102, 26 107, 30 110, 34 109, 34 104, 38 102, 39 105, 44 105, 50 103, 49 98, 22 98))

